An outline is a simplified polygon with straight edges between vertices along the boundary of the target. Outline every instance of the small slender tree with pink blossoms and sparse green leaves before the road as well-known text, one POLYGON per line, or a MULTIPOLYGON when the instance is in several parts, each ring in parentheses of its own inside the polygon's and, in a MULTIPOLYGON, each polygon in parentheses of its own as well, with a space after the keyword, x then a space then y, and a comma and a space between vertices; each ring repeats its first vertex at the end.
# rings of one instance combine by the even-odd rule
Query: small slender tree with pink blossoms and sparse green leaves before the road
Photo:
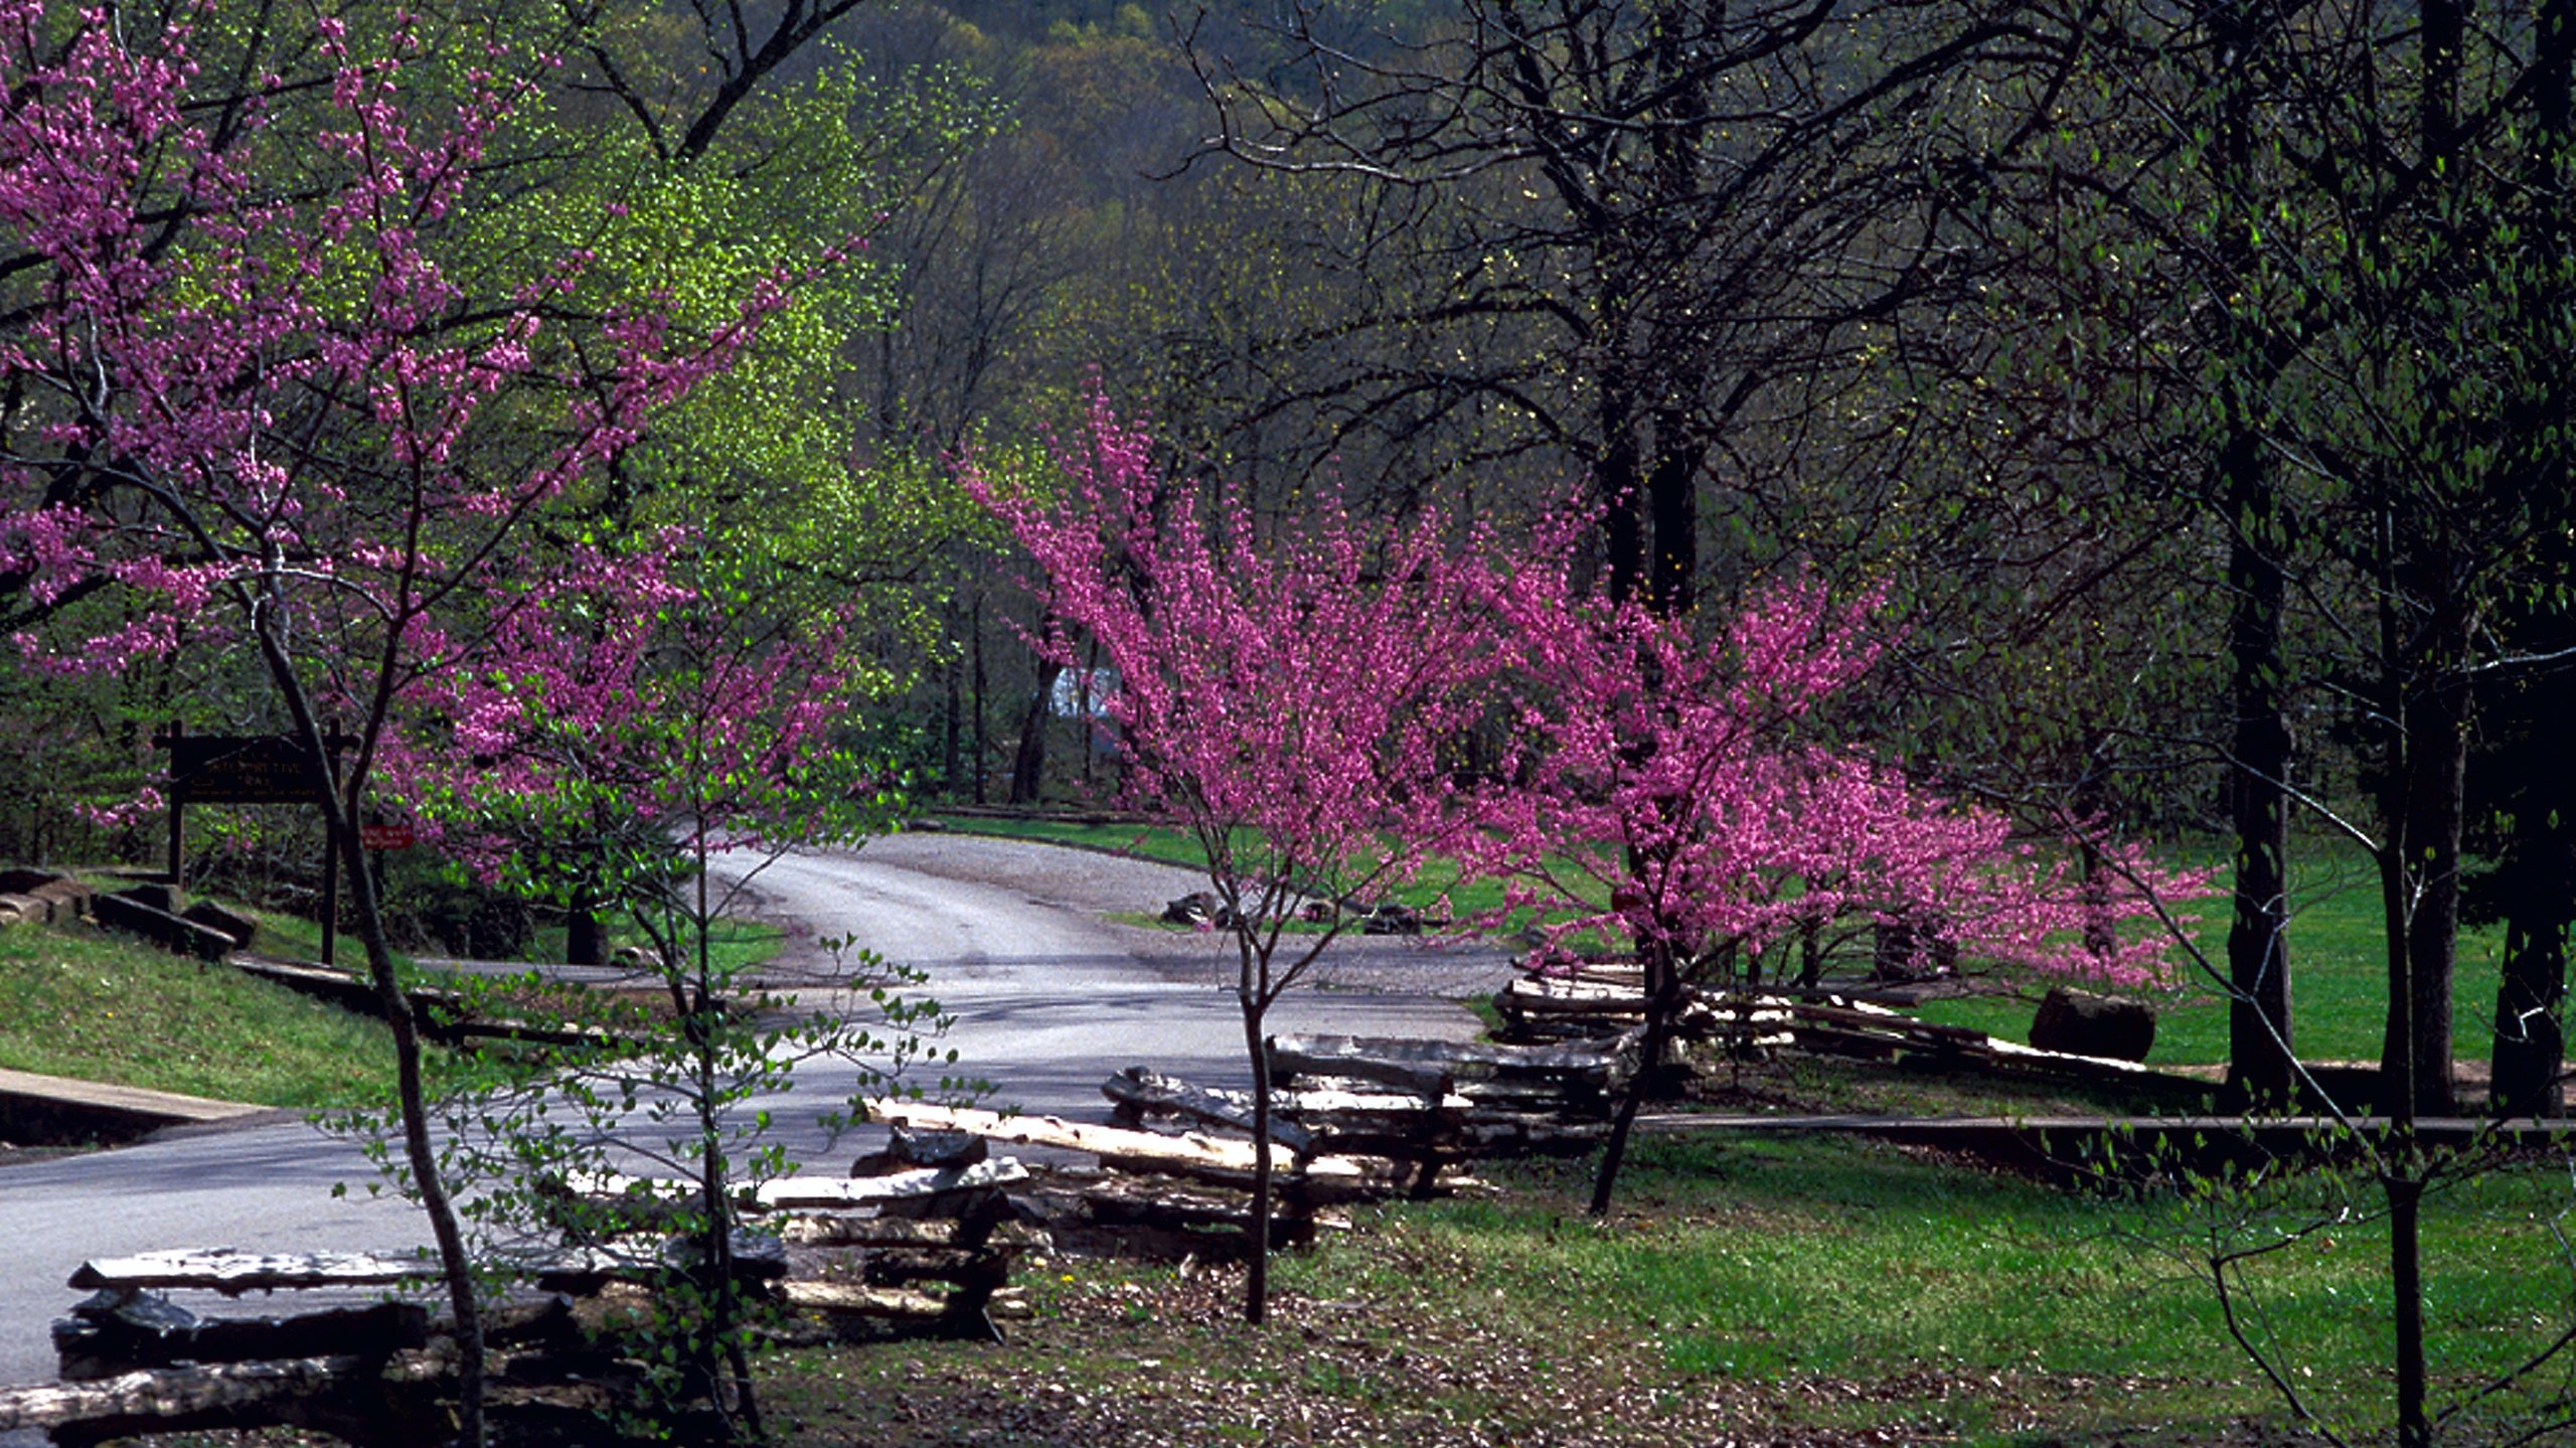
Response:
POLYGON ((886 827, 899 796, 845 742, 884 680, 855 603, 775 564, 680 531, 569 564, 500 585, 477 665, 402 701, 384 804, 487 884, 613 910, 649 943, 639 974, 662 1000, 502 982, 518 1018, 554 1005, 582 1031, 536 1080, 451 1095, 448 1162, 497 1260, 531 1232, 605 1255, 685 1242, 690 1270, 621 1342, 647 1366, 634 1412, 690 1440, 760 1440, 750 1348, 768 1317, 739 1291, 739 1203, 796 1170, 760 1098, 822 1064, 891 1090, 943 1018, 904 995, 917 974, 871 958, 842 961, 863 979, 811 982, 842 987, 827 1005, 773 995, 716 930, 783 850, 886 827), (626 1193, 562 1193, 636 1170, 626 1193), (672 1180, 685 1198, 665 1196, 672 1180))

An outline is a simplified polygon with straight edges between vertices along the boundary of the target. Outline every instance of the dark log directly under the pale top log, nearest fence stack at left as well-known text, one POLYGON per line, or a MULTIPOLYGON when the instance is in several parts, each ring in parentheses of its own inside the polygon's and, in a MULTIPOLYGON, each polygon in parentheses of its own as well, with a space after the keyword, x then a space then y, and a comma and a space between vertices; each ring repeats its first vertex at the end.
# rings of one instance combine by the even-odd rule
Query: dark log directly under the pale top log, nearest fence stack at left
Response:
POLYGON ((430 1314, 407 1301, 332 1306, 291 1317, 201 1319, 167 1299, 98 1293, 54 1322, 64 1381, 100 1381, 175 1363, 255 1358, 392 1358, 430 1340, 430 1314), (108 1299, 108 1301, 100 1301, 108 1299))

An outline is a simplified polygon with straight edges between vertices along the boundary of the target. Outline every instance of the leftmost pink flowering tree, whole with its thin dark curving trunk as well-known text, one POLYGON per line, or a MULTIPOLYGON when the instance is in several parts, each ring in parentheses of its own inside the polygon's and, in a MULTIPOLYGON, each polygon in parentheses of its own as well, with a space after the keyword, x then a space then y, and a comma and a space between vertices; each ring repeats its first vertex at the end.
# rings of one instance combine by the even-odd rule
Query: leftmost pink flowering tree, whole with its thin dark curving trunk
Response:
POLYGON ((469 304, 425 237, 469 206, 526 88, 489 54, 456 106, 404 106, 417 36, 358 54, 317 21, 325 119, 263 152, 263 98, 196 106, 188 13, 64 21, 0 0, 0 593, 26 667, 111 672, 188 649, 242 660, 299 739, 348 866, 355 933, 397 1046, 402 1154, 464 1340, 482 1342, 440 1188, 420 1041, 361 866, 358 824, 407 745, 404 701, 505 649, 492 598, 546 546, 580 479, 726 368, 786 301, 714 332, 585 309, 582 258, 469 304), (211 126, 211 129, 209 129, 211 126), (263 165, 294 165, 294 186, 263 165), (350 729, 355 745, 327 750, 350 729))

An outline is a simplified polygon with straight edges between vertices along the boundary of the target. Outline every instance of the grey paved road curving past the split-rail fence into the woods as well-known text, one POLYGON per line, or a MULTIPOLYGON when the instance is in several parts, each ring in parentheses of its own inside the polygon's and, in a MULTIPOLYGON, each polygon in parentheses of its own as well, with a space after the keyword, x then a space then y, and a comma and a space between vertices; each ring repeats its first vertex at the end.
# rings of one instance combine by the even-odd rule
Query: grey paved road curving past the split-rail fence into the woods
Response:
MULTIPOLYGON (((930 971, 933 995, 958 1018, 948 1038, 958 1069, 994 1080, 1005 1103, 1095 1121, 1105 1116, 1100 1077, 1121 1064, 1249 1080, 1224 943, 1103 920, 1159 910, 1195 884, 1170 866, 961 835, 793 855, 752 879, 760 910, 793 925, 781 984, 814 984, 832 966, 817 940, 850 935, 930 971)), ((1463 1038, 1473 1018, 1440 997, 1499 979, 1494 953, 1337 943, 1319 961, 1321 989, 1283 1000, 1273 1031, 1463 1038)), ((822 1170, 845 1165, 855 1147, 827 1147, 809 1121, 848 1090, 845 1072, 809 1072, 793 1100, 773 1103, 793 1154, 822 1170)), ((62 1281, 82 1257, 422 1242, 407 1206, 363 1198, 366 1180, 350 1147, 299 1121, 0 1170, 0 1384, 54 1376, 46 1322, 70 1306, 62 1281), (332 1183, 350 1183, 353 1196, 335 1201, 332 1183)))

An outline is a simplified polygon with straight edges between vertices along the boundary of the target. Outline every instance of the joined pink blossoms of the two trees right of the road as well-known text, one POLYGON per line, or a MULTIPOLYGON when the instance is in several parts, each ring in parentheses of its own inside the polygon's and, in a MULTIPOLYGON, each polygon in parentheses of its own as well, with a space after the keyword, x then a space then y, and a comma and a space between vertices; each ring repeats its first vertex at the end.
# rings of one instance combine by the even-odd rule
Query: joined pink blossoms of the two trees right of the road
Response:
POLYGON ((1131 801, 1198 832, 1229 899, 1445 853, 1558 940, 1610 933, 1674 971, 1891 928, 2154 984, 2156 902, 2205 891, 2099 840, 2107 868, 2081 879, 2071 837, 2025 837, 1842 739, 1824 714, 1878 657, 1875 595, 1788 582, 1703 636, 1579 590, 1584 518, 1517 546, 1360 526, 1329 495, 1255 518, 1167 477, 1105 402, 1061 469, 1054 500, 966 477, 1043 569, 1048 613, 1115 665, 1131 801), (1512 742, 1486 778, 1461 768, 1476 727, 1512 742), (1247 861, 1242 835, 1267 853, 1247 861))

